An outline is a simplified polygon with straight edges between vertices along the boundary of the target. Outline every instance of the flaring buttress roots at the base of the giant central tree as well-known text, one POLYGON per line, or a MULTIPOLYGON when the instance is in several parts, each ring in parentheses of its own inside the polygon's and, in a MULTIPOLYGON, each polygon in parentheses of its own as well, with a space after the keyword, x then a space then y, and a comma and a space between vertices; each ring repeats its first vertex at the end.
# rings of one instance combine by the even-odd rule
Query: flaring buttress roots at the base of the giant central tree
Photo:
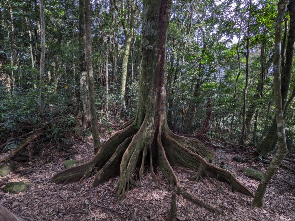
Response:
POLYGON ((147 116, 138 130, 135 121, 127 122, 100 148, 92 160, 56 174, 51 182, 82 181, 97 169, 93 187, 119 175, 116 197, 120 200, 126 191, 132 188, 135 179, 141 181, 147 165, 153 181, 157 184, 154 172, 154 166, 157 165, 169 183, 176 187, 177 194, 210 211, 220 213, 214 206, 185 191, 172 168, 181 166, 195 170, 196 180, 204 176, 216 178, 253 197, 253 193, 237 181, 232 173, 206 160, 212 159, 214 153, 199 140, 172 133, 166 123, 152 130, 149 125, 153 124, 153 120, 149 120, 147 116), (137 176, 134 176, 134 171, 137 171, 137 176))

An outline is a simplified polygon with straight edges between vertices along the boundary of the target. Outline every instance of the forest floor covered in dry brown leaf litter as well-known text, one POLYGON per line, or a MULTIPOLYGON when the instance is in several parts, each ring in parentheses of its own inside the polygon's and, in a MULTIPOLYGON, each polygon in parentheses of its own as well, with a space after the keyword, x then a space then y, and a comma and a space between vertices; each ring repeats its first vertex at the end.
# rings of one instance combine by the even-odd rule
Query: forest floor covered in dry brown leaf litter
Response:
MULTIPOLYGON (((105 132, 105 134, 108 133, 105 132)), ((104 140, 109 137, 110 135, 104 137, 104 140)), ((64 169, 63 164, 66 159, 76 159, 79 162, 91 159, 93 149, 86 144, 86 142, 91 143, 91 138, 83 138, 83 140, 73 139, 75 144, 68 150, 68 153, 59 152, 54 145, 49 145, 43 148, 38 155, 30 156, 28 162, 18 163, 17 171, 0 178, 0 204, 23 220, 29 221, 165 220, 170 209, 171 192, 174 188, 168 185, 159 170, 156 171, 158 186, 151 181, 149 173, 146 172, 141 186, 127 192, 119 203, 114 198, 118 177, 96 188, 91 187, 94 176, 80 184, 50 183, 52 176, 64 169), (18 194, 3 192, 4 184, 21 180, 29 180, 33 184, 32 187, 18 194)), ((212 143, 208 148, 216 151, 214 164, 219 165, 221 161, 225 162, 226 168, 232 171, 236 178, 252 192, 255 192, 259 182, 246 177, 241 169, 249 167, 263 172, 267 168, 266 164, 257 161, 252 163, 233 161, 233 156, 241 156, 247 152, 246 150, 241 152, 238 147, 223 147, 212 143)), ((295 168, 294 163, 285 162, 285 164, 295 168)), ((286 169, 279 168, 274 174, 266 190, 264 207, 261 209, 251 207, 252 198, 239 192, 232 192, 226 183, 213 179, 213 182, 219 184, 215 186, 212 180, 207 178, 194 182, 189 180, 195 174, 194 171, 179 167, 175 167, 174 170, 181 184, 187 187, 188 192, 223 211, 222 214, 216 215, 177 195, 178 220, 295 220, 295 175, 286 169)))

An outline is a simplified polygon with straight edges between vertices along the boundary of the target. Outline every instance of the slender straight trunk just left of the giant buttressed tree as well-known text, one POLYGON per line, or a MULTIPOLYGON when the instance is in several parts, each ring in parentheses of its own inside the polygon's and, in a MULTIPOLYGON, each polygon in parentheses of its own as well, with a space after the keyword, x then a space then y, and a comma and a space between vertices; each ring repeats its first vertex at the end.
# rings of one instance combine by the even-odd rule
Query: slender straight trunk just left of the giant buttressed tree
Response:
POLYGON ((89 110, 91 130, 93 137, 94 152, 97 153, 100 147, 98 120, 95 108, 95 87, 92 67, 92 41, 91 41, 91 20, 90 20, 90 0, 84 0, 84 35, 85 35, 85 62, 89 83, 89 110))

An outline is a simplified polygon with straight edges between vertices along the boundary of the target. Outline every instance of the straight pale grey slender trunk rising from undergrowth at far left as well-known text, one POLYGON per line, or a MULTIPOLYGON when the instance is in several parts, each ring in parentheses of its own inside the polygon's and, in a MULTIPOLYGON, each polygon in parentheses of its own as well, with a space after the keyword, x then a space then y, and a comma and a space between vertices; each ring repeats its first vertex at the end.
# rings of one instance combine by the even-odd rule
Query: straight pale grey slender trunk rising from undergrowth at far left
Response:
POLYGON ((40 57, 40 78, 39 78, 39 107, 44 111, 43 77, 45 74, 45 17, 43 0, 40 0, 41 19, 41 57, 40 57))

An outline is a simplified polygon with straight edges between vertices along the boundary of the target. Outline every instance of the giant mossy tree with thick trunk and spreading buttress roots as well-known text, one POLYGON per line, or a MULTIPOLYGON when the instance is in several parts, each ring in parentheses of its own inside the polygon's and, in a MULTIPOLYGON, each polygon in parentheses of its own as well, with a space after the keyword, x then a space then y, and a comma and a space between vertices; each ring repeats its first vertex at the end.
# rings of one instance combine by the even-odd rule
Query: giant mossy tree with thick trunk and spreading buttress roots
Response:
POLYGON ((52 182, 83 180, 94 168, 98 168, 93 186, 119 174, 117 198, 120 199, 130 188, 134 180, 132 174, 137 166, 139 180, 148 164, 151 176, 157 183, 153 167, 158 165, 168 181, 176 186, 177 193, 218 212, 216 208, 183 190, 172 168, 182 166, 197 171, 195 179, 202 176, 218 178, 230 183, 234 189, 253 196, 232 173, 207 162, 206 159, 212 158, 214 154, 200 141, 178 136, 167 126, 165 45, 171 2, 172 0, 143 1, 142 73, 135 117, 104 143, 92 160, 56 174, 52 182))

